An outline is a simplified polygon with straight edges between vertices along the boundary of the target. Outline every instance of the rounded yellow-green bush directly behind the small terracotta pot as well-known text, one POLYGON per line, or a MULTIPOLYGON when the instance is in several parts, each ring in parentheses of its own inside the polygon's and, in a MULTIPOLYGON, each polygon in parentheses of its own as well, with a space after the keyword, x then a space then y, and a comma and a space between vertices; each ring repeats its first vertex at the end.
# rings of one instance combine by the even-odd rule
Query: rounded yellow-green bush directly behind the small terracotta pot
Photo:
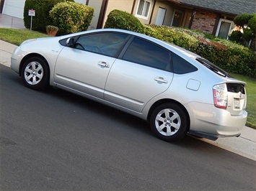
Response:
POLYGON ((70 34, 87 30, 93 12, 90 6, 67 1, 56 4, 50 11, 50 18, 59 28, 58 34, 70 34))

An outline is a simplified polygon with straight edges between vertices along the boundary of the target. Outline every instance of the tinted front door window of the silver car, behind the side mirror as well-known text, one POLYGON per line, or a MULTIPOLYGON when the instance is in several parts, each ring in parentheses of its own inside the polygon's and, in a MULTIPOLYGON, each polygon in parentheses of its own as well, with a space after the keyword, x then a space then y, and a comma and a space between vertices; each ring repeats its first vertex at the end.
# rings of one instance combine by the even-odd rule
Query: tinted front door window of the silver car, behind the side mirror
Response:
POLYGON ((100 32, 79 37, 75 48, 89 52, 116 57, 128 40, 128 34, 100 32))

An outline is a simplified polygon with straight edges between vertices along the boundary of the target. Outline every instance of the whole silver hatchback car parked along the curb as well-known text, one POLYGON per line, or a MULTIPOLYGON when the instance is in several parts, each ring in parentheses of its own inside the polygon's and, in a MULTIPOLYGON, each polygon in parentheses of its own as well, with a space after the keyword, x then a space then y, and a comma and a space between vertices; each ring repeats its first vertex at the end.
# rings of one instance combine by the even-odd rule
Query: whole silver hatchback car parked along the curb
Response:
POLYGON ((149 121, 164 141, 239 136, 245 83, 192 52, 144 34, 97 29, 29 39, 12 54, 25 85, 48 85, 149 121))

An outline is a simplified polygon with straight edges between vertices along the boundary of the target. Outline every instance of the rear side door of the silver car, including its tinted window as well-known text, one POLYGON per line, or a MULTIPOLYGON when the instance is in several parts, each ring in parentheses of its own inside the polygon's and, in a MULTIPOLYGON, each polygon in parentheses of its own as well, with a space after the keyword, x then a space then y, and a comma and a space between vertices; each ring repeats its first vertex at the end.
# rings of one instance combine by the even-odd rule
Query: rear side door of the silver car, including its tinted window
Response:
POLYGON ((172 78, 170 52, 134 37, 122 58, 112 65, 105 100, 141 112, 151 98, 167 90, 172 78))

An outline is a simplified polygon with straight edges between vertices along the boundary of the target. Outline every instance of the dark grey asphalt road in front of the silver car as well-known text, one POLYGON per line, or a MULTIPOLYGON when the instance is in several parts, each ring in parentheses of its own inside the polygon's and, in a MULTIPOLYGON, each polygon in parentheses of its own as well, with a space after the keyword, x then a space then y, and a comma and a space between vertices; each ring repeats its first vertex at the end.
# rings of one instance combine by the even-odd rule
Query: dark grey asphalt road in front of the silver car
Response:
POLYGON ((256 190, 256 163, 63 90, 37 92, 0 65, 0 190, 256 190))

